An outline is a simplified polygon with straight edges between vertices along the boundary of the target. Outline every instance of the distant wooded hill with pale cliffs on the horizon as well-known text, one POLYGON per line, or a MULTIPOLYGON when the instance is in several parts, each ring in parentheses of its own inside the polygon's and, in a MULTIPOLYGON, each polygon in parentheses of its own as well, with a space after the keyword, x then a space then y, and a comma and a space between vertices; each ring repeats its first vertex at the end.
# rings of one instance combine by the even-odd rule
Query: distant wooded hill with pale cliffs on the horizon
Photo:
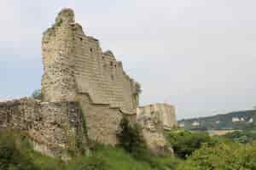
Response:
POLYGON ((180 127, 189 130, 244 129, 256 121, 256 110, 234 111, 224 115, 206 116, 178 121, 180 127))

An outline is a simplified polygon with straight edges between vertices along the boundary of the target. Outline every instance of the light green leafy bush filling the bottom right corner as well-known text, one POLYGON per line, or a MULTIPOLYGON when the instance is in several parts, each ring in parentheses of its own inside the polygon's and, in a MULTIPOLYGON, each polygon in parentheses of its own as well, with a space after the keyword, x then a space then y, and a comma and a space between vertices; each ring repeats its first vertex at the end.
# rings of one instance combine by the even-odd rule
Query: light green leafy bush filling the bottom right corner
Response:
POLYGON ((177 170, 253 170, 256 169, 256 144, 219 144, 196 150, 177 170))

